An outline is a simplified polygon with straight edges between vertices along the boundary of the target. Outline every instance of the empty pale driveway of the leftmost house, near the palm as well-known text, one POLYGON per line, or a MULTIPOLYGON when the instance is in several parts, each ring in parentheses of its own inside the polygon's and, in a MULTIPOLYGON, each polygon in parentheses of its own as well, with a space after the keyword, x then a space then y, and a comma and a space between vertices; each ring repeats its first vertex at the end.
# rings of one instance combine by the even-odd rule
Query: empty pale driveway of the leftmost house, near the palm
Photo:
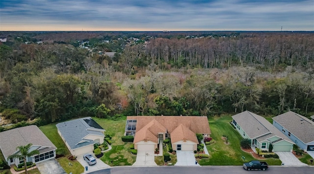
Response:
POLYGON ((55 158, 36 163, 36 167, 41 174, 66 174, 55 158))

